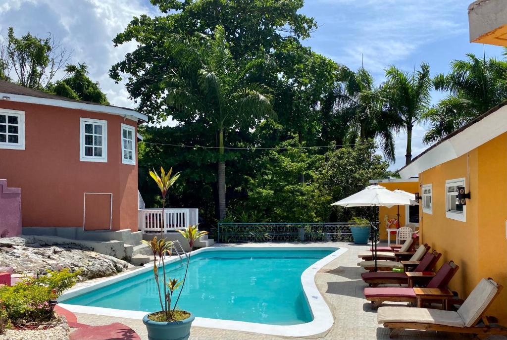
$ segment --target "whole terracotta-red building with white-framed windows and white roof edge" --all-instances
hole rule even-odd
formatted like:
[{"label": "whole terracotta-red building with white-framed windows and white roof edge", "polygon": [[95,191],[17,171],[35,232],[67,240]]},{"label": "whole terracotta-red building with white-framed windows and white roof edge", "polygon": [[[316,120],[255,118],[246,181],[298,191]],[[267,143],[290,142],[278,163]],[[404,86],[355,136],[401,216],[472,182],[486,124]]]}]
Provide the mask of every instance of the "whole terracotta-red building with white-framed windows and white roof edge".
[{"label": "whole terracotta-red building with white-framed windows and white roof edge", "polygon": [[0,179],[23,227],[137,231],[137,125],[147,117],[0,81]]}]

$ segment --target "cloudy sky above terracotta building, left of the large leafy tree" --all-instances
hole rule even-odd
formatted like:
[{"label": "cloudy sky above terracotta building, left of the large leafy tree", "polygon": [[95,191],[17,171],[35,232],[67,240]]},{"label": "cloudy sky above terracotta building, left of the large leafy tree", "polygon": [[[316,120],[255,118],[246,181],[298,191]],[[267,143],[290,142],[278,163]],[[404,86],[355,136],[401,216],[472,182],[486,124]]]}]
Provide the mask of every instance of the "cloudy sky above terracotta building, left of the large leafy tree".
[{"label": "cloudy sky above terracotta building, left of the large leafy tree", "polygon": [[51,32],[69,50],[72,62],[86,63],[90,78],[100,83],[113,105],[134,108],[125,84],[115,84],[108,70],[135,49],[135,43],[115,48],[113,38],[122,32],[134,16],[157,14],[156,8],[143,0],[1,0],[0,29],[13,26],[16,35],[46,36]]}]

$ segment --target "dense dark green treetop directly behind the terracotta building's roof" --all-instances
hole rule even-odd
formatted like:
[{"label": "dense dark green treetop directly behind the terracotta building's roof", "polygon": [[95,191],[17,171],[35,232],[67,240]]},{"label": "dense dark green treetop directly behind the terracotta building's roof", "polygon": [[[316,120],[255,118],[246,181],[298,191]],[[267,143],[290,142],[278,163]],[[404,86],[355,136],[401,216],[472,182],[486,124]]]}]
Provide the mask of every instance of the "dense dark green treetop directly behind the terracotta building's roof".
[{"label": "dense dark green treetop directly behind the terracotta building's roof", "polygon": [[50,83],[47,91],[58,96],[108,105],[109,102],[98,82],[93,82],[88,77],[87,68],[86,64],[65,66],[68,77],[54,84]]}]

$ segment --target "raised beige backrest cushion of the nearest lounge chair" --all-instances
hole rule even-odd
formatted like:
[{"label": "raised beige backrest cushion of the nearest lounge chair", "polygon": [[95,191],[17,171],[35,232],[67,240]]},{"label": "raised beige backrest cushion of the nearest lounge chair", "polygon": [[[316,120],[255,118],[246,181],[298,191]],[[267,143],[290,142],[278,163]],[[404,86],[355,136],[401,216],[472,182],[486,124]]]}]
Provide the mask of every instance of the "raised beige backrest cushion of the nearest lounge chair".
[{"label": "raised beige backrest cushion of the nearest lounge chair", "polygon": [[457,312],[466,327],[474,326],[475,321],[488,307],[497,291],[498,286],[493,280],[482,279],[479,282]]}]

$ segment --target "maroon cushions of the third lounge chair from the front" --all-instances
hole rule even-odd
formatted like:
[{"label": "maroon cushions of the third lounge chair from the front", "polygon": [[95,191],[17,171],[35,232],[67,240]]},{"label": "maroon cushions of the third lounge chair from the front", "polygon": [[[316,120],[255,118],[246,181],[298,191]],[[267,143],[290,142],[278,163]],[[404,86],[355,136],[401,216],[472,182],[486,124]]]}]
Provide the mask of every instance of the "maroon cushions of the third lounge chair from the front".
[{"label": "maroon cushions of the third lounge chair from the front", "polygon": [[[432,253],[427,252],[422,258],[421,262],[414,269],[414,273],[427,273],[432,272],[433,268],[437,264],[438,260],[442,256],[441,253],[433,251]],[[429,275],[427,276],[429,277]],[[368,272],[361,273],[361,278],[370,286],[375,287],[379,284],[408,284],[409,278],[406,272],[395,273],[395,272]]]}]

